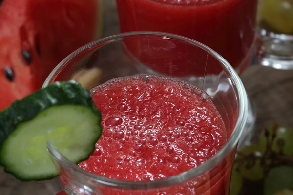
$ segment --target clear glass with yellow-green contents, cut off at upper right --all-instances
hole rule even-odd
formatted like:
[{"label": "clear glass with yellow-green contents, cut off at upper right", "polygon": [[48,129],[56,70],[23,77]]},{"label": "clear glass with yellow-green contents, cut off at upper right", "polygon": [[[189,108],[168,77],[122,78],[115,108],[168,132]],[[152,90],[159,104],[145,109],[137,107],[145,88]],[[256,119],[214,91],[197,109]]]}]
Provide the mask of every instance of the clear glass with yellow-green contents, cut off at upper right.
[{"label": "clear glass with yellow-green contents, cut off at upper right", "polygon": [[259,14],[260,64],[293,69],[293,0],[261,0]]}]

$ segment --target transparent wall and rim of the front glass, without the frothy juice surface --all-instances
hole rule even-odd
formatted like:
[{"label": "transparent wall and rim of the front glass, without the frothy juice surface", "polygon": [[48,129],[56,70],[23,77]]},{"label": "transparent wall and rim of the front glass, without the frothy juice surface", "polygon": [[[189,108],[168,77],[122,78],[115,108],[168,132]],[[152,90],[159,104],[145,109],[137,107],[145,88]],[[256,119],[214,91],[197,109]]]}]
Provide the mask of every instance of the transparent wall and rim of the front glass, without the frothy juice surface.
[{"label": "transparent wall and rim of the front glass, without the frothy juice surface", "polygon": [[[230,175],[235,150],[247,119],[248,102],[244,86],[230,64],[209,47],[173,34],[159,32],[132,32],[118,34],[89,43],[64,59],[46,79],[43,87],[54,81],[75,79],[89,89],[110,79],[136,74],[158,75],[129,55],[129,42],[152,42],[158,50],[165,49],[164,56],[154,55],[147,44],[142,48],[145,58],[152,58],[157,67],[168,61],[173,64],[169,73],[185,64],[195,66],[204,60],[207,70],[221,69],[212,79],[197,82],[212,99],[223,118],[227,143],[213,157],[194,169],[155,181],[122,181],[94,175],[68,161],[56,148],[48,145],[60,173],[63,187],[74,189],[80,195],[228,195]],[[177,47],[190,51],[190,56],[182,55],[180,63],[172,60],[179,55]],[[177,65],[175,65],[177,63]],[[188,69],[186,70],[188,72]],[[203,76],[204,77],[204,76]],[[177,77],[184,80],[184,77]],[[127,170],[126,170],[127,171]]]}]

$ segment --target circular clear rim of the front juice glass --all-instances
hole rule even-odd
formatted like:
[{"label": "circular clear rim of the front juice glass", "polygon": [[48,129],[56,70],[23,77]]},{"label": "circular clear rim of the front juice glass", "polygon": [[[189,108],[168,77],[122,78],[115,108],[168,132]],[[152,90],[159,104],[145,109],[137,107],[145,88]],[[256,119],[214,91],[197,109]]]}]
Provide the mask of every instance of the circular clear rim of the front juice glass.
[{"label": "circular clear rim of the front juice glass", "polygon": [[217,163],[221,162],[225,156],[228,156],[229,153],[237,146],[237,143],[241,137],[242,131],[245,127],[245,123],[247,120],[247,114],[248,114],[248,99],[247,94],[244,88],[243,83],[241,82],[239,76],[237,75],[236,71],[230,66],[228,61],[224,59],[222,56],[220,56],[217,52],[209,48],[208,46],[195,41],[193,39],[189,39],[183,36],[175,35],[175,34],[169,34],[169,33],[163,33],[163,32],[154,32],[154,31],[136,31],[136,32],[128,32],[128,33],[120,33],[112,36],[108,36],[102,39],[98,39],[96,41],[90,42],[81,48],[77,49],[76,51],[72,52],[70,55],[68,55],[65,59],[63,59],[50,73],[50,75],[46,78],[42,88],[48,86],[51,83],[51,80],[55,78],[57,73],[63,69],[63,67],[73,58],[75,58],[80,53],[90,49],[93,46],[99,45],[101,43],[105,43],[107,41],[115,41],[117,39],[121,39],[124,37],[129,36],[137,36],[137,35],[148,35],[148,36],[159,36],[162,38],[167,39],[177,39],[184,42],[187,42],[188,44],[191,44],[193,46],[199,47],[203,50],[205,50],[207,53],[212,55],[214,58],[216,58],[223,66],[225,71],[228,72],[230,75],[230,78],[233,80],[235,87],[238,92],[239,96],[239,115],[237,117],[236,125],[233,129],[233,132],[226,142],[226,144],[211,158],[209,158],[207,161],[205,161],[203,164],[200,164],[199,166],[190,169],[186,172],[183,172],[181,174],[167,177],[164,179],[154,180],[154,181],[124,181],[124,180],[117,180],[117,179],[111,179],[104,176],[99,176],[93,173],[90,173],[88,171],[85,171],[84,169],[80,168],[78,165],[74,164],[70,160],[68,160],[65,156],[63,156],[50,142],[47,143],[47,148],[50,154],[54,157],[54,159],[62,165],[64,168],[68,169],[71,173],[74,175],[80,176],[81,178],[86,178],[90,181],[93,181],[95,183],[98,183],[100,185],[104,185],[107,187],[116,187],[116,188],[122,188],[122,189],[132,189],[132,190],[139,190],[139,189],[153,189],[158,187],[166,187],[169,185],[178,184],[184,181],[187,181],[191,178],[194,178],[196,176],[200,176],[201,174],[204,174],[205,172],[209,171],[209,169],[213,168]]}]

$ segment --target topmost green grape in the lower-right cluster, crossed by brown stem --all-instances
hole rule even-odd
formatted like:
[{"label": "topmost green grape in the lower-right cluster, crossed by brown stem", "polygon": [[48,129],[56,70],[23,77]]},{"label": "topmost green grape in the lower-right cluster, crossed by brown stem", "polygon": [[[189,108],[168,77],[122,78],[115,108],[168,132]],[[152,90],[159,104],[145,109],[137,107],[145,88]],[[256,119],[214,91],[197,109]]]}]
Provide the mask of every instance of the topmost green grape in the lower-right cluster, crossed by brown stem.
[{"label": "topmost green grape in the lower-right cluster, crossed by brown stem", "polygon": [[[260,134],[259,145],[262,150],[266,150],[267,141],[271,142],[274,127],[271,126],[268,128],[269,139],[265,136],[265,131]],[[277,127],[275,131],[276,137],[272,143],[272,150],[274,152],[279,152],[279,145],[283,145],[283,153],[286,155],[293,155],[293,129],[287,127]]]}]

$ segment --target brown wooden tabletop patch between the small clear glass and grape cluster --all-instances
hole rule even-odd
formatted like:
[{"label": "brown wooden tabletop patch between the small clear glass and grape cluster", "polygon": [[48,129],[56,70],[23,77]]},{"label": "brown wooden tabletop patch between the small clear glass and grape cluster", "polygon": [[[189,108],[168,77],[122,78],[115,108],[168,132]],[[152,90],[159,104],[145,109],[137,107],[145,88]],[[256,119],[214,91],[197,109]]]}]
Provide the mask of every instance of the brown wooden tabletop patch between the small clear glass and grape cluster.
[{"label": "brown wooden tabletop patch between the small clear glass and grape cluster", "polygon": [[273,123],[293,127],[293,71],[256,65],[241,79],[256,112],[256,133]]}]

